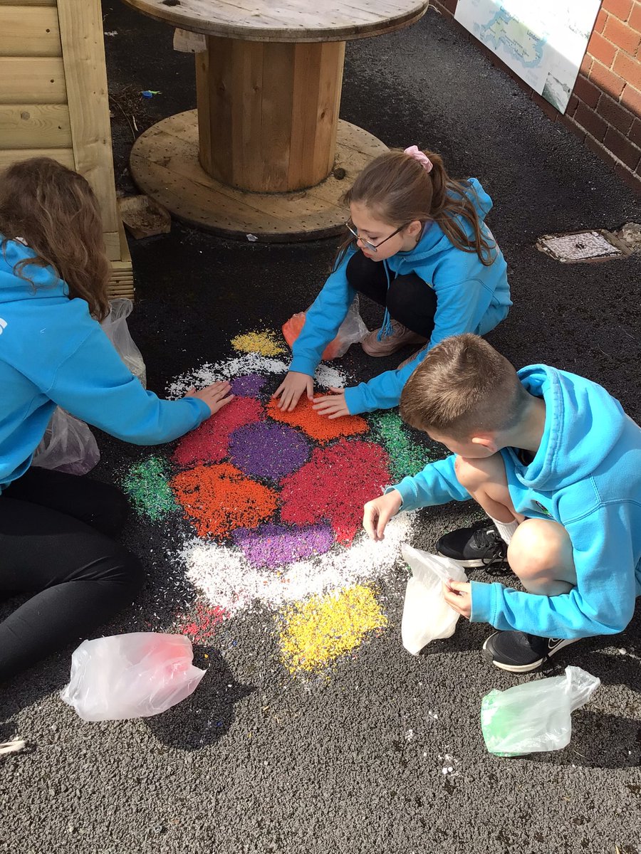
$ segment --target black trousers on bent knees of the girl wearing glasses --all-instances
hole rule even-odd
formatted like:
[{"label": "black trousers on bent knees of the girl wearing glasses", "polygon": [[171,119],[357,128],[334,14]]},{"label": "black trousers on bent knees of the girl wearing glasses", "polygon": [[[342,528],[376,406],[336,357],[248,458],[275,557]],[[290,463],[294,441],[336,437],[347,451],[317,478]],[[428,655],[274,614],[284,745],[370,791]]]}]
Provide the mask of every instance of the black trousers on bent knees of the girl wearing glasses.
[{"label": "black trousers on bent knees of the girl wearing glasses", "polygon": [[415,272],[392,279],[388,289],[383,265],[384,261],[373,261],[356,252],[347,264],[347,280],[359,293],[386,307],[391,318],[429,338],[434,328],[436,294]]}]

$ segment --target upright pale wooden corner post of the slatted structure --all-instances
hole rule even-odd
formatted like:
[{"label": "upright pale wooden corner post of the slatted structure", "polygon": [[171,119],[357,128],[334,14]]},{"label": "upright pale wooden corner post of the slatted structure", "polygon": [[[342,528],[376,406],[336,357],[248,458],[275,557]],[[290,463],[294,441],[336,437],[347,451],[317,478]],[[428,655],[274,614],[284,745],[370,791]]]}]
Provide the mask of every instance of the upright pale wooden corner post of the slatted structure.
[{"label": "upright pale wooden corner post of the slatted structure", "polygon": [[103,16],[99,0],[58,0],[76,170],[97,195],[105,232],[118,231],[109,126]]}]

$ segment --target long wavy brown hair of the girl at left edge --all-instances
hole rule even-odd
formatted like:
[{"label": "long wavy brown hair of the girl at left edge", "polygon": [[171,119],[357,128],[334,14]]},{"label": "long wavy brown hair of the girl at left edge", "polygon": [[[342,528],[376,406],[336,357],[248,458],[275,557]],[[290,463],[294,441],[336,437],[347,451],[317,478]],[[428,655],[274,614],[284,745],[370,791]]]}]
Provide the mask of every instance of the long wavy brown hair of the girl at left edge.
[{"label": "long wavy brown hair of the girl at left edge", "polygon": [[107,316],[110,266],[103,223],[82,175],[49,157],[14,163],[0,176],[0,235],[3,253],[16,237],[36,253],[15,265],[16,276],[32,283],[27,266],[51,266],[67,283],[70,299],[85,300],[97,320]]}]

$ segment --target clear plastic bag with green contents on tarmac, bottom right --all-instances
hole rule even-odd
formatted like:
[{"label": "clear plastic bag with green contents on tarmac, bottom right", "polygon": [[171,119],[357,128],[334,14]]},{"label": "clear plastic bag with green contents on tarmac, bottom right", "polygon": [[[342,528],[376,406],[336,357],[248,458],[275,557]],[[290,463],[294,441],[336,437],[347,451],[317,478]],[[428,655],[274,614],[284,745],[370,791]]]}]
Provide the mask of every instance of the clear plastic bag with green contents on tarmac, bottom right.
[{"label": "clear plastic bag with green contents on tarmac, bottom right", "polygon": [[580,667],[566,667],[564,676],[491,691],[481,702],[485,746],[497,756],[561,750],[570,743],[572,712],[585,705],[600,684]]}]

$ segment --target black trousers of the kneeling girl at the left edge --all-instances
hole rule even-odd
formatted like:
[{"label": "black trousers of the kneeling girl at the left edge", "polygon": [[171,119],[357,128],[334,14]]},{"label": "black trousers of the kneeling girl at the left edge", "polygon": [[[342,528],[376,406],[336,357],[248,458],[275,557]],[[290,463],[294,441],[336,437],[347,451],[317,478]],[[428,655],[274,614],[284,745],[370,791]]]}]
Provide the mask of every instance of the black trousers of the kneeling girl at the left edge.
[{"label": "black trousers of the kneeling girl at the left edge", "polygon": [[0,591],[35,594],[0,623],[0,682],[132,601],[143,568],[111,539],[127,511],[108,483],[35,467],[0,495]]}]

